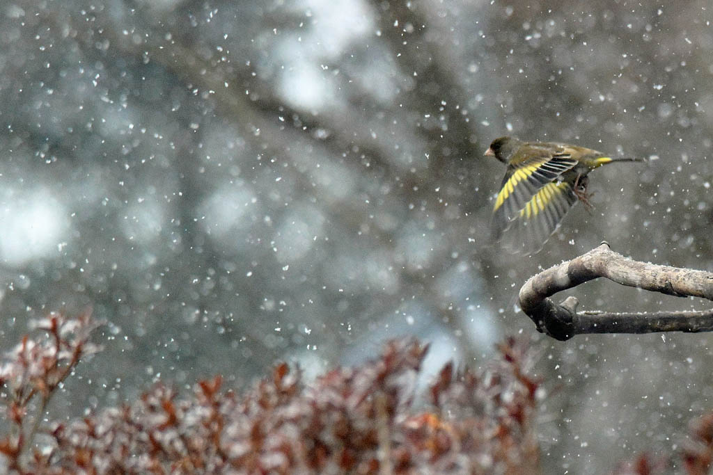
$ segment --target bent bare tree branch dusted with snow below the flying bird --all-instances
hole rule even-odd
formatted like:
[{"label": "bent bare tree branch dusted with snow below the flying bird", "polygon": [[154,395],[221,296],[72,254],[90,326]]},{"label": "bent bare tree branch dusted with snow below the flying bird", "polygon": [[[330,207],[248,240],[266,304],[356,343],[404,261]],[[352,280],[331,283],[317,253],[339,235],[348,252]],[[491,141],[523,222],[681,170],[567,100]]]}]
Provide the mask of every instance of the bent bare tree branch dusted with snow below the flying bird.
[{"label": "bent bare tree branch dusted with snow below the flying bird", "polygon": [[578,300],[554,303],[550,296],[597,277],[622,286],[643,288],[677,297],[713,301],[713,273],[632,261],[603,242],[582,256],[530,277],[520,288],[520,308],[538,331],[558,340],[585,333],[654,333],[713,331],[713,309],[702,311],[610,313],[578,312]]}]

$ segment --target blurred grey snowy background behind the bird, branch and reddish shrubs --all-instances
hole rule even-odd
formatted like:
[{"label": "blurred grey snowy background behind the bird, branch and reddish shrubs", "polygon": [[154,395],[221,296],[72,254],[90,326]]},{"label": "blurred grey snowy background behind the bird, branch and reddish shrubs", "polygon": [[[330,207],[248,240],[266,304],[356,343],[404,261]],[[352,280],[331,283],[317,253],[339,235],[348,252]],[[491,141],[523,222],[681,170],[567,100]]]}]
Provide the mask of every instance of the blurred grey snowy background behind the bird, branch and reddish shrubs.
[{"label": "blurred grey snowy background behind the bird, branch and reddish shrubs", "polygon": [[[606,239],[713,270],[707,1],[0,2],[0,337],[92,306],[106,351],[51,408],[275,360],[308,375],[432,342],[479,365],[533,335],[545,473],[677,447],[713,409],[713,335],[559,343],[515,312]],[[513,134],[648,157],[590,175],[529,259],[488,243]],[[705,308],[604,281],[583,308]]]}]

